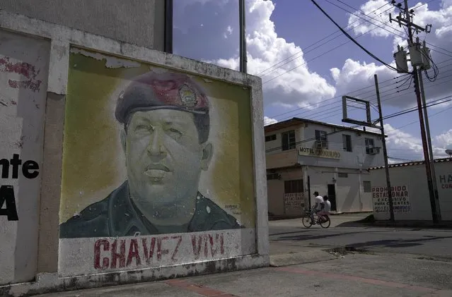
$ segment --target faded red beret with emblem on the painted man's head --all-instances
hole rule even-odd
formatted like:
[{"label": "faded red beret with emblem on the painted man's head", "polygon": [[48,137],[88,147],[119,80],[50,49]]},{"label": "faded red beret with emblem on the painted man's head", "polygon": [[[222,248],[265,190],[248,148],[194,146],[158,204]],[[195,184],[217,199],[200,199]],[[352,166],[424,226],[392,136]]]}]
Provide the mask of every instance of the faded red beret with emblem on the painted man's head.
[{"label": "faded red beret with emblem on the painted man's head", "polygon": [[144,73],[132,79],[117,99],[115,116],[126,123],[129,114],[153,109],[176,109],[194,114],[209,113],[202,88],[183,73]]}]

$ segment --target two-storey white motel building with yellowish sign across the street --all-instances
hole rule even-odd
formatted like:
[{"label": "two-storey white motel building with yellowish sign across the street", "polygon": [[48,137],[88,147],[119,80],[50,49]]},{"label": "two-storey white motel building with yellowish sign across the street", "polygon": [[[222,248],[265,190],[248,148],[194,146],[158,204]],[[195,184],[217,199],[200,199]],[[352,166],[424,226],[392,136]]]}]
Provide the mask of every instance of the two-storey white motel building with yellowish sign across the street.
[{"label": "two-storey white motel building with yellowish sign across the street", "polygon": [[302,214],[315,191],[332,211],[372,211],[367,169],[383,166],[381,147],[381,134],[365,129],[299,118],[265,126],[270,215]]}]

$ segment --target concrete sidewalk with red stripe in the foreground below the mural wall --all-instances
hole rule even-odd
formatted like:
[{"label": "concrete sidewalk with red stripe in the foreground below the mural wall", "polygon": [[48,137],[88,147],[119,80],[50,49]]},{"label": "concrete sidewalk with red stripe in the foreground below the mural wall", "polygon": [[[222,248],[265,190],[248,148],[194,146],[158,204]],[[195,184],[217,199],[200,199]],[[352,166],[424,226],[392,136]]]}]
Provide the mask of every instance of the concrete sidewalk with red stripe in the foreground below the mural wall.
[{"label": "concrete sidewalk with red stripe in the foreground below the mural wall", "polygon": [[53,293],[42,297],[450,297],[450,266],[450,263],[419,260],[406,255],[352,253],[335,260],[304,265]]}]

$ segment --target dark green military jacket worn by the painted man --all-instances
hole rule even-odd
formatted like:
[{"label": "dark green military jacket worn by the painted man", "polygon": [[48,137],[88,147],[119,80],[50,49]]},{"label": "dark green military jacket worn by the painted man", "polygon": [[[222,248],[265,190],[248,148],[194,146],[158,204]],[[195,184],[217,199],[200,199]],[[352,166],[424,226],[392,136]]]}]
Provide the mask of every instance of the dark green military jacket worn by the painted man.
[{"label": "dark green military jacket worn by the painted man", "polygon": [[[238,229],[237,220],[214,202],[197,194],[196,210],[186,232]],[[107,198],[86,207],[59,226],[60,238],[117,237],[160,234],[129,198],[127,181]]]}]

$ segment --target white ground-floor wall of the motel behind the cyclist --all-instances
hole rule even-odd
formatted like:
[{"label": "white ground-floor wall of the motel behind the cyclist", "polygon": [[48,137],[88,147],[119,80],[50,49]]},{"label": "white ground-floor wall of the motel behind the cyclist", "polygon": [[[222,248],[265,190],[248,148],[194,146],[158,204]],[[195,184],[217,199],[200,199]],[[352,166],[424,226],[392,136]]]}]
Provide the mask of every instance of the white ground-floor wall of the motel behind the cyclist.
[{"label": "white ground-floor wall of the motel behind the cyclist", "polygon": [[[363,181],[369,179],[366,171],[354,169],[331,169],[328,167],[306,166],[311,183],[311,205],[314,205],[313,193],[328,195],[328,185],[335,185],[337,212],[371,212],[371,193],[364,193]],[[347,177],[340,177],[347,174]],[[335,181],[333,181],[333,179]]]}]

